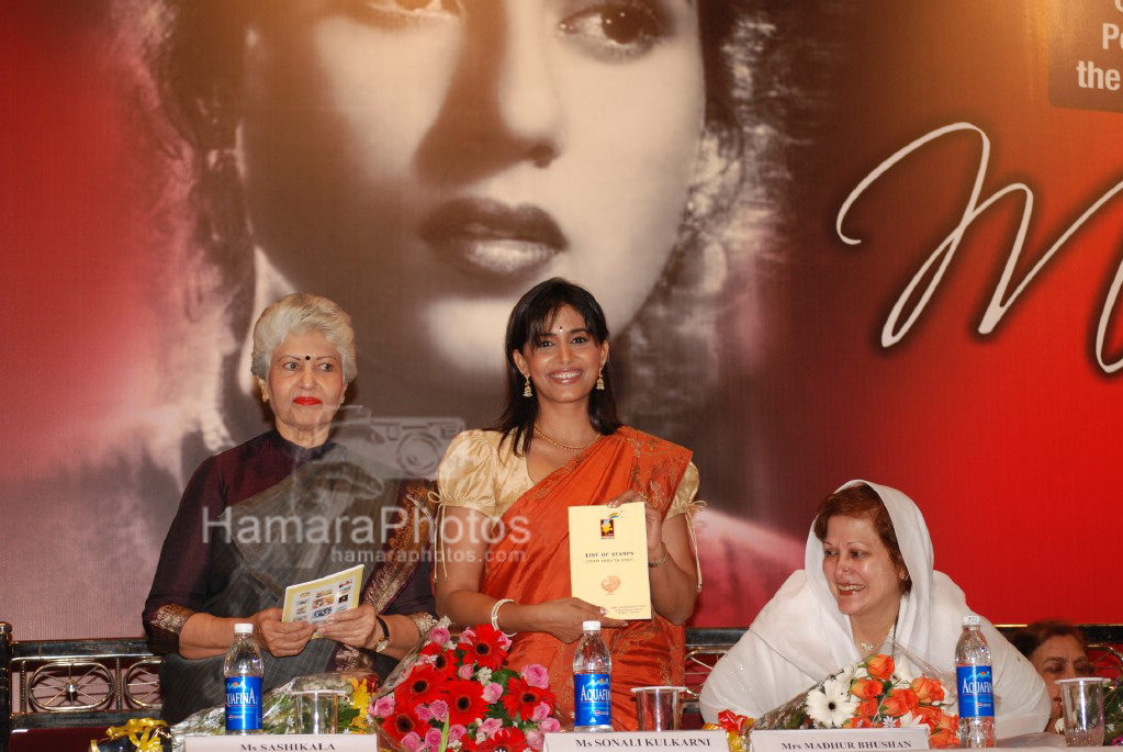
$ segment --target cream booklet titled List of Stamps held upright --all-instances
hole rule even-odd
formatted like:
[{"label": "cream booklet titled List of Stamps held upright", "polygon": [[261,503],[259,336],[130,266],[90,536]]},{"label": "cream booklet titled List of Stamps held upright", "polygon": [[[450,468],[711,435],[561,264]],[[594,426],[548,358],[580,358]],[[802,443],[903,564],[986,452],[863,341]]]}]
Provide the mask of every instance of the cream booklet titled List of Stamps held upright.
[{"label": "cream booklet titled List of Stamps held upright", "polygon": [[612,618],[651,618],[642,502],[569,507],[569,581]]}]

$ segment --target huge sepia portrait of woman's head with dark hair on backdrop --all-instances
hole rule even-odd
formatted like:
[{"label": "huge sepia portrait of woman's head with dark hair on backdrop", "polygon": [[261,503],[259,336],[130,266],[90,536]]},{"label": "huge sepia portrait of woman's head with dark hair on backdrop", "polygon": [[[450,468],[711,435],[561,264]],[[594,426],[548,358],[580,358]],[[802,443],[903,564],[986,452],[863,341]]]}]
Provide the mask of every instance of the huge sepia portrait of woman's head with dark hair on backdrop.
[{"label": "huge sepia portrait of woman's head with dark hair on backdrop", "polygon": [[731,257],[767,233],[760,8],[167,2],[152,63],[192,181],[195,305],[225,311],[244,379],[204,433],[259,421],[243,333],[292,290],[367,322],[353,404],[476,424],[512,301],[551,276],[604,301],[632,412],[685,409],[716,370]]}]

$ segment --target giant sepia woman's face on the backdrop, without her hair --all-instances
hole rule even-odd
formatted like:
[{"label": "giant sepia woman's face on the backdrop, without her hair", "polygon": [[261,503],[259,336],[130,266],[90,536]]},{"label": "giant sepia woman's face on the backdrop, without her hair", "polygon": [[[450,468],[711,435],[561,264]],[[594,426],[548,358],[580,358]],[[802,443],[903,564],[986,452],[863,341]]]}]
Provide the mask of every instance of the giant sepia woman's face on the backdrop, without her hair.
[{"label": "giant sepia woman's face on the backdrop, without her hair", "polygon": [[511,305],[550,276],[631,320],[694,173],[693,0],[270,10],[239,130],[253,233],[296,288],[365,319],[360,354],[491,384]]}]

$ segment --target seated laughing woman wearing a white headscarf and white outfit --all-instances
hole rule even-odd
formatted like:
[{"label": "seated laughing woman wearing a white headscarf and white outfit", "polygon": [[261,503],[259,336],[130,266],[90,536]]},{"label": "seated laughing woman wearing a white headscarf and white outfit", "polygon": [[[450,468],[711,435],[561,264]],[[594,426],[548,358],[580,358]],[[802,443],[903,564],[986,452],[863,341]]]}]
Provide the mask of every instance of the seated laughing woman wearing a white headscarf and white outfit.
[{"label": "seated laughing woman wearing a white headscarf and white outfit", "polygon": [[[816,514],[794,572],[702,689],[702,714],[759,717],[874,653],[907,654],[955,673],[964,591],[933,569],[920,510],[887,486],[851,480]],[[996,734],[1039,732],[1049,697],[1033,667],[983,620],[994,657]]]}]

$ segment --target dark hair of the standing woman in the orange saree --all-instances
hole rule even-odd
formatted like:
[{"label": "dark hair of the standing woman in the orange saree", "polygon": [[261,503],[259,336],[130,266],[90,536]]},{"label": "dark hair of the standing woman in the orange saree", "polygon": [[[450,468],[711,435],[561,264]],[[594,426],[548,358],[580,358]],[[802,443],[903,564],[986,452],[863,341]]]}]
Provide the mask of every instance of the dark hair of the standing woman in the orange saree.
[{"label": "dark hair of the standing woman in the orange saree", "polygon": [[[506,337],[503,340],[506,358],[506,407],[491,427],[510,437],[515,453],[524,455],[530,449],[538,420],[538,392],[522,396],[526,378],[514,364],[514,352],[528,345],[537,347],[538,338],[546,333],[557,312],[568,305],[585,320],[585,328],[597,345],[609,341],[609,323],[601,304],[593,294],[581,285],[562,277],[540,282],[519,299],[506,321]],[[612,391],[612,369],[604,364],[602,372],[604,389],[593,389],[588,395],[588,422],[601,435],[614,433],[620,428],[617,418],[617,398]]]}]

